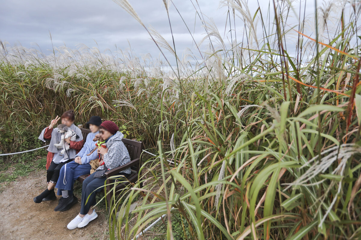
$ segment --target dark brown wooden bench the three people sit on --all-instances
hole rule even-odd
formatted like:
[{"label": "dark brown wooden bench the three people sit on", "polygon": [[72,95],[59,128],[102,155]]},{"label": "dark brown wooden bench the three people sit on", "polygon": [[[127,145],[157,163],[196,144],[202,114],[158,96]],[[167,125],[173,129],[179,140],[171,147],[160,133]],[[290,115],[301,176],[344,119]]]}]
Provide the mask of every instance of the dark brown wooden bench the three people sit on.
[{"label": "dark brown wooden bench the three people sit on", "polygon": [[[83,139],[84,141],[87,139],[88,133],[90,133],[91,131],[86,129],[86,128],[80,128],[82,130],[82,135],[83,135]],[[124,145],[126,146],[126,148],[128,149],[129,152],[129,156],[130,156],[130,162],[127,164],[124,164],[123,166],[114,168],[112,170],[109,170],[108,172],[105,173],[105,176],[107,178],[106,180],[106,184],[110,184],[113,183],[115,180],[114,179],[109,179],[109,177],[112,176],[116,176],[119,175],[119,172],[121,172],[122,170],[129,168],[131,169],[131,173],[130,176],[127,177],[127,179],[131,182],[131,183],[135,183],[136,181],[138,181],[138,173],[140,171],[140,154],[142,153],[142,142],[138,142],[138,141],[134,141],[134,140],[130,140],[130,139],[122,139]],[[83,183],[83,181],[89,176],[89,174],[86,175],[82,175],[78,178],[78,181]],[[116,186],[116,191],[125,188],[129,183],[118,183]],[[108,185],[106,186],[106,192],[108,193],[108,195],[106,195],[106,199],[108,200],[108,203],[110,204],[110,200],[112,199],[112,192],[110,192],[110,189],[113,187],[113,185]],[[109,193],[110,192],[110,193]]]}]

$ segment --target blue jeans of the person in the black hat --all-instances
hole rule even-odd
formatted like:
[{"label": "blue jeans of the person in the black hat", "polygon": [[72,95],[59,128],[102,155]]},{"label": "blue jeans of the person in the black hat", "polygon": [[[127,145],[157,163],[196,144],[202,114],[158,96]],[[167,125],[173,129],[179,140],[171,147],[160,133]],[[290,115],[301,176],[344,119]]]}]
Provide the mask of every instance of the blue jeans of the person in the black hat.
[{"label": "blue jeans of the person in the black hat", "polygon": [[56,188],[58,189],[57,195],[61,195],[61,190],[68,190],[69,196],[73,195],[73,186],[75,180],[78,177],[90,174],[91,166],[89,163],[79,164],[74,161],[65,164],[60,169],[60,175],[58,181],[56,182]]}]

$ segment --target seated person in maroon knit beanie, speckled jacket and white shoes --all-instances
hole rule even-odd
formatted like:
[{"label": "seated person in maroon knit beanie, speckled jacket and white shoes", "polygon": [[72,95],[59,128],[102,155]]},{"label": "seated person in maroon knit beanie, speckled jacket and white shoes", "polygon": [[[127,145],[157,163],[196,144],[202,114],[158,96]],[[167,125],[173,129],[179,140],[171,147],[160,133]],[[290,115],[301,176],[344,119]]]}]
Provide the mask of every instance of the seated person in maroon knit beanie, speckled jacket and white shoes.
[{"label": "seated person in maroon knit beanie, speckled jacket and white shoes", "polygon": [[[68,224],[69,229],[85,227],[90,221],[97,218],[98,214],[91,207],[96,204],[95,195],[104,189],[106,181],[105,172],[130,162],[130,156],[122,138],[123,133],[118,131],[118,126],[112,121],[104,121],[100,125],[99,134],[105,139],[107,148],[99,148],[98,153],[103,156],[103,162],[94,173],[83,182],[82,201],[80,213]],[[126,168],[119,175],[130,176],[130,168]]]}]

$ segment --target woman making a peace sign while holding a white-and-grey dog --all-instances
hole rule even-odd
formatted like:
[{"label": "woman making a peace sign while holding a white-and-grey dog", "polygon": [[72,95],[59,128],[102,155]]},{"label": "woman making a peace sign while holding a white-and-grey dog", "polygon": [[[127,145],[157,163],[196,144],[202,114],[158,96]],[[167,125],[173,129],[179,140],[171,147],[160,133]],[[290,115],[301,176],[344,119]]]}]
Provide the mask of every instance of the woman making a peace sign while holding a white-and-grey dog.
[{"label": "woman making a peace sign while holding a white-and-grey dog", "polygon": [[[57,128],[53,131],[55,124],[61,119],[61,123],[68,126],[71,130],[74,130],[77,134],[77,140],[70,141],[70,138],[65,139],[66,142],[69,143],[70,149],[66,152],[66,154],[61,155],[61,149],[57,149],[54,144],[60,142],[61,135],[64,133],[59,133]],[[43,191],[40,195],[34,198],[35,203],[41,203],[42,201],[50,201],[56,199],[54,193],[54,187],[59,177],[61,167],[68,162],[71,162],[75,158],[76,150],[79,150],[83,147],[83,135],[82,131],[74,125],[74,110],[66,111],[60,118],[56,116],[50,122],[49,127],[44,128],[42,133],[39,136],[39,139],[42,141],[50,140],[50,145],[48,147],[48,155],[47,155],[47,183],[48,188]]]}]

